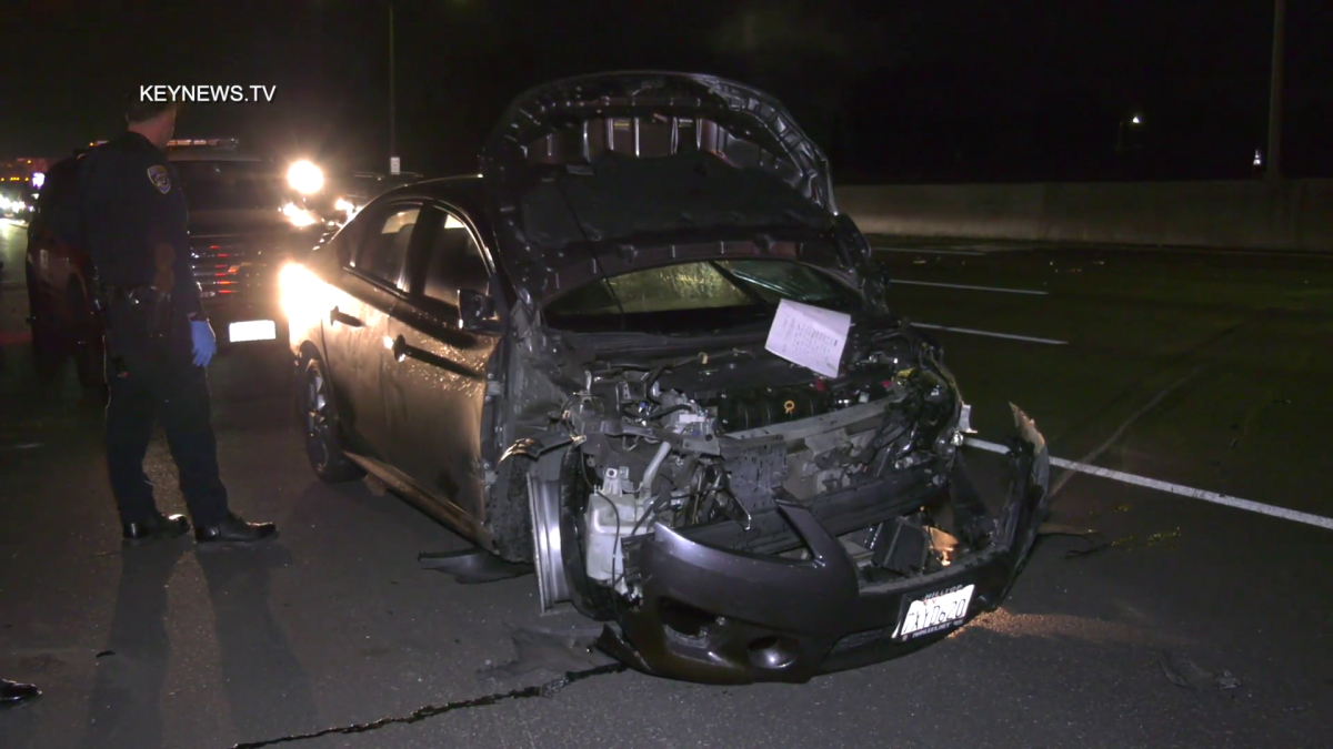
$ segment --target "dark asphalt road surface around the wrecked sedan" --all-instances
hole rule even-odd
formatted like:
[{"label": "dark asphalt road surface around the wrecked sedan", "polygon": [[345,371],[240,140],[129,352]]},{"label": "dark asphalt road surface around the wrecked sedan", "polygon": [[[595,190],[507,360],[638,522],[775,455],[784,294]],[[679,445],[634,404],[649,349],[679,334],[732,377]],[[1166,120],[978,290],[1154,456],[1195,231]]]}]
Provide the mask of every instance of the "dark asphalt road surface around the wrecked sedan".
[{"label": "dark asphalt road surface around the wrecked sedan", "polygon": [[[1010,401],[1084,468],[1053,472],[1053,533],[1010,598],[917,654],[801,686],[623,672],[560,688],[584,668],[569,652],[487,670],[516,657],[511,628],[577,624],[537,617],[531,577],[423,570],[417,552],[461,541],[373,482],[315,480],[281,351],[212,368],[232,504],[280,541],[121,553],[100,409],[68,364],[29,355],[23,241],[0,225],[0,676],[45,694],[0,713],[0,746],[336,728],[281,745],[1333,744],[1330,260],[880,239],[898,309],[934,327],[973,404],[986,481]],[[160,442],[149,472],[183,512]]]}]

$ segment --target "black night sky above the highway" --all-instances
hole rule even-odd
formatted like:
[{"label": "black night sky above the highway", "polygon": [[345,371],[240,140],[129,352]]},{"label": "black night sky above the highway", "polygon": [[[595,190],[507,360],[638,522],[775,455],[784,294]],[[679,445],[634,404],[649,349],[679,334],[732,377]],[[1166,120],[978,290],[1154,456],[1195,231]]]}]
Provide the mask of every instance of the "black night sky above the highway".
[{"label": "black night sky above the highway", "polygon": [[[1288,4],[1289,176],[1333,175],[1321,5]],[[177,133],[387,168],[385,1],[11,0],[3,13],[0,157],[115,135],[143,84],[264,84],[272,103],[196,104]],[[1266,140],[1272,0],[405,0],[396,17],[397,151],[428,173],[475,171],[524,88],[616,68],[768,89],[841,180],[1244,179]],[[1144,127],[1120,133],[1134,113]]]}]

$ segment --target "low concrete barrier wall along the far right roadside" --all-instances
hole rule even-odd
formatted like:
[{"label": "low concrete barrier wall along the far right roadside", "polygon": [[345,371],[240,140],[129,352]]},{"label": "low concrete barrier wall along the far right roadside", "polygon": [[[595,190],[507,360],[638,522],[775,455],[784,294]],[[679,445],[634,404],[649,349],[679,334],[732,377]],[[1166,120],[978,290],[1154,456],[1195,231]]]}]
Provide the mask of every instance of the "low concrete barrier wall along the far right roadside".
[{"label": "low concrete barrier wall along the far right roadside", "polygon": [[837,189],[865,233],[1333,252],[1333,180]]}]

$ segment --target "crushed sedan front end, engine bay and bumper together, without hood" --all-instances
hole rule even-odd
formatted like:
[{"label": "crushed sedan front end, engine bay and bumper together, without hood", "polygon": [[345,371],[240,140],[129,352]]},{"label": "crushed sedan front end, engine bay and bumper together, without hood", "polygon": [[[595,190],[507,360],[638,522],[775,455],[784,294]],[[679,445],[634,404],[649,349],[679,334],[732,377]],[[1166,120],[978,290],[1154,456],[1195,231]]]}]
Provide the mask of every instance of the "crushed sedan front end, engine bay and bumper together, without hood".
[{"label": "crushed sedan front end, engine bay and bumper together, without hood", "polygon": [[1045,442],[1016,408],[1009,494],[985,501],[938,349],[865,329],[838,378],[740,345],[605,363],[564,392],[560,357],[531,359],[559,416],[503,460],[525,465],[543,608],[609,621],[603,648],[645,672],[748,682],[889,657],[996,606],[1044,510]]}]

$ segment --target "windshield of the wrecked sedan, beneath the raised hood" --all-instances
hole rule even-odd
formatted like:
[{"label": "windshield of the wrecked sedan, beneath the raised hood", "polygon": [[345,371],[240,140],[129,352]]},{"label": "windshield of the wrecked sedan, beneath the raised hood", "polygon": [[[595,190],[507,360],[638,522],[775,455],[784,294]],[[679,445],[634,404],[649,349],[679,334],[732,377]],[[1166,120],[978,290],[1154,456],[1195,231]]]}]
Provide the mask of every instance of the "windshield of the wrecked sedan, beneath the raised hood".
[{"label": "windshield of the wrecked sedan, beneath the raised hood", "polygon": [[[708,260],[601,279],[547,305],[573,332],[706,333],[766,321],[784,299],[856,312],[853,289],[784,260]],[[624,312],[624,313],[621,313]]]}]

